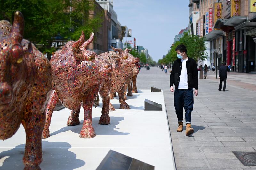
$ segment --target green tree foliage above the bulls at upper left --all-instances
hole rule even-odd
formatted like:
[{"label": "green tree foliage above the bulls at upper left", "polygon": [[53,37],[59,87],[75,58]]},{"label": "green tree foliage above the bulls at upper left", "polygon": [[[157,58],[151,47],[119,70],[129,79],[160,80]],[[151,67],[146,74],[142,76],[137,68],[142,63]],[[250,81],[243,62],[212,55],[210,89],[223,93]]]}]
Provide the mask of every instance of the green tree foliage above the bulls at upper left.
[{"label": "green tree foliage above the bulls at upper left", "polygon": [[101,27],[104,13],[89,17],[93,9],[94,1],[90,0],[0,0],[0,20],[12,23],[14,12],[21,11],[25,19],[24,38],[44,44],[40,49],[43,52],[53,52],[56,49],[51,48],[51,42],[57,35],[77,40],[82,30],[88,38]]}]

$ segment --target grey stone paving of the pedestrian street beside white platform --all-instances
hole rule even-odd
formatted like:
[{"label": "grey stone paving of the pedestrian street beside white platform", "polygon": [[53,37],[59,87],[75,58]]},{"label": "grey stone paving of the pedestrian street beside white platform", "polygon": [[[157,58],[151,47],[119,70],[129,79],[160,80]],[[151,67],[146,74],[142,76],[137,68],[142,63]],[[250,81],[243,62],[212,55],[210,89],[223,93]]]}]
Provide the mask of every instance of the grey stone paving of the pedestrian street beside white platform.
[{"label": "grey stone paving of the pedestrian street beside white platform", "polygon": [[218,91],[215,73],[209,72],[208,77],[199,80],[191,120],[195,132],[190,137],[185,136],[185,125],[183,132],[176,132],[169,70],[165,74],[157,67],[141,69],[137,87],[155,86],[164,91],[177,169],[256,169],[244,166],[232,153],[256,151],[256,75],[228,73],[226,92]]}]

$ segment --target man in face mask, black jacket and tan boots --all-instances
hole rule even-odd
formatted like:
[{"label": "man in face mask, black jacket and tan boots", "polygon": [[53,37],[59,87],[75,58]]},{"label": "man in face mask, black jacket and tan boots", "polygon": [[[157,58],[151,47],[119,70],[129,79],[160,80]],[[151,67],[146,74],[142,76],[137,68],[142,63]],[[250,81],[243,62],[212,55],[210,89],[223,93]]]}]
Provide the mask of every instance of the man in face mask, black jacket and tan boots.
[{"label": "man in face mask, black jacket and tan boots", "polygon": [[191,128],[191,112],[193,111],[194,96],[193,89],[195,88],[195,96],[198,95],[198,71],[196,61],[187,56],[185,45],[178,45],[175,49],[177,59],[172,65],[170,76],[170,91],[173,92],[173,83],[175,85],[174,92],[174,107],[178,118],[177,132],[183,130],[183,107],[185,109],[186,120],[186,136],[194,133]]}]

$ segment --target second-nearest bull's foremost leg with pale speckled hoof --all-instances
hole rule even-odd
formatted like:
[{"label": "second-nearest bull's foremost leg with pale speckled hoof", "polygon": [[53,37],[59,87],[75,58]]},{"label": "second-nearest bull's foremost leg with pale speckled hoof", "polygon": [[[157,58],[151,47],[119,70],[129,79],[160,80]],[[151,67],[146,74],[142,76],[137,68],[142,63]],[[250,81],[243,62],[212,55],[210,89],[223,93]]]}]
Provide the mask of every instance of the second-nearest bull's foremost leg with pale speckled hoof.
[{"label": "second-nearest bull's foremost leg with pale speckled hoof", "polygon": [[84,108],[84,122],[79,137],[93,138],[96,136],[94,128],[92,127],[92,106],[93,101],[98,94],[99,86],[94,86],[87,90],[83,98]]}]

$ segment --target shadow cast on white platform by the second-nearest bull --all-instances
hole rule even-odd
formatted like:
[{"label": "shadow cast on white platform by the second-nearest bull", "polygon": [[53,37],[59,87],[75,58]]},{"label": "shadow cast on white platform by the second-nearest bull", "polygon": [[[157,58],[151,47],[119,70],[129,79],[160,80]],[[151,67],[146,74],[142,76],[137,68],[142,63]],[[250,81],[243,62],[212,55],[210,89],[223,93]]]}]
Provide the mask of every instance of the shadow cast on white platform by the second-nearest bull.
[{"label": "shadow cast on white platform by the second-nearest bull", "polygon": [[[68,118],[67,118],[67,120],[68,120]],[[124,120],[123,117],[111,116],[110,117],[110,124],[108,124],[108,125],[99,125],[98,124],[99,120],[100,120],[100,117],[92,118],[92,126],[94,127],[96,135],[128,135],[128,134],[130,134],[130,133],[125,133],[125,132],[119,132],[117,130],[119,128],[116,128],[116,125],[118,125],[120,121]],[[72,132],[75,132],[77,134],[80,134],[80,131],[81,131],[82,126],[83,126],[83,121],[84,120],[81,120],[80,124],[76,125],[76,126],[67,126],[67,125],[65,125],[65,127],[61,128],[60,130],[52,132],[50,134],[50,136],[57,135],[59,133],[66,132],[66,131],[69,131],[69,130],[71,130]],[[96,126],[98,126],[100,128],[96,128]]]}]

